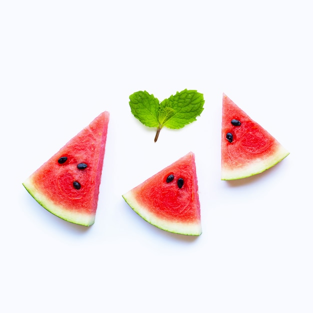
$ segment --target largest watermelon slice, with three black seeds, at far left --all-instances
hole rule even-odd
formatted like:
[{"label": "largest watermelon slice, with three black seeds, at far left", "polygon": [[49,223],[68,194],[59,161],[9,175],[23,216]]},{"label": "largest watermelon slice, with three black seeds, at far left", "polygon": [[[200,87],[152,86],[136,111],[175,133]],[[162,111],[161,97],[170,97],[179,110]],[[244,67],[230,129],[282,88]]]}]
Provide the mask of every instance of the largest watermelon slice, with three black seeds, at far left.
[{"label": "largest watermelon slice, with three black seeds, at far left", "polygon": [[54,215],[72,223],[94,223],[109,113],[99,114],[23,185]]}]

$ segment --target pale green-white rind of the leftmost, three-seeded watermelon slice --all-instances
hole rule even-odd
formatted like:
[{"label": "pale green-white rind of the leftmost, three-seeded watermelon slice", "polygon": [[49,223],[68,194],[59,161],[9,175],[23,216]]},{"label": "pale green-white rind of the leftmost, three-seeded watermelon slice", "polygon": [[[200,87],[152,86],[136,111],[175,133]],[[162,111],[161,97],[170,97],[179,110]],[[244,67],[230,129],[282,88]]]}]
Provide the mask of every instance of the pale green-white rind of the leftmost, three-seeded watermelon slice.
[{"label": "pale green-white rind of the leftmost, three-seeded watermelon slice", "polygon": [[66,220],[68,222],[79,224],[82,226],[90,226],[94,223],[95,214],[81,213],[77,210],[70,211],[60,205],[55,204],[51,199],[42,194],[33,184],[31,176],[29,176],[23,183],[28,193],[47,211],[55,216]]}]

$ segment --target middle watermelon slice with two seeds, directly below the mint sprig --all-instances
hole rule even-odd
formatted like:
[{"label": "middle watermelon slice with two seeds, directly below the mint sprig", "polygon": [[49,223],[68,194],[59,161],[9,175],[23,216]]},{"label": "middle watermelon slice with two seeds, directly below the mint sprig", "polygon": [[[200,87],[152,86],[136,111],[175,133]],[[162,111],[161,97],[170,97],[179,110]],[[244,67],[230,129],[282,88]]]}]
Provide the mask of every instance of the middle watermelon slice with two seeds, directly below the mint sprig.
[{"label": "middle watermelon slice with two seeds, directly below the mint sprig", "polygon": [[138,215],[160,229],[184,235],[200,235],[202,232],[193,152],[122,197]]}]

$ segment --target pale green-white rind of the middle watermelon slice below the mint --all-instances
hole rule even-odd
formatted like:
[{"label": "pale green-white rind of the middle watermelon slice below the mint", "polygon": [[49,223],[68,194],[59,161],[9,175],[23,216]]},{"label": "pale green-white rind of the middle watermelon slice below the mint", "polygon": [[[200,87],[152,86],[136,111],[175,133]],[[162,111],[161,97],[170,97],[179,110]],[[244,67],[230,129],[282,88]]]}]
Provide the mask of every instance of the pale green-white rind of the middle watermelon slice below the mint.
[{"label": "pale green-white rind of the middle watermelon slice below the mint", "polygon": [[128,192],[122,194],[122,197],[139,216],[141,216],[145,221],[156,226],[157,228],[183,235],[199,236],[202,233],[200,221],[187,223],[170,221],[168,219],[162,219],[155,216],[153,213],[150,212],[149,208],[140,205],[136,201],[132,190],[129,190]]}]

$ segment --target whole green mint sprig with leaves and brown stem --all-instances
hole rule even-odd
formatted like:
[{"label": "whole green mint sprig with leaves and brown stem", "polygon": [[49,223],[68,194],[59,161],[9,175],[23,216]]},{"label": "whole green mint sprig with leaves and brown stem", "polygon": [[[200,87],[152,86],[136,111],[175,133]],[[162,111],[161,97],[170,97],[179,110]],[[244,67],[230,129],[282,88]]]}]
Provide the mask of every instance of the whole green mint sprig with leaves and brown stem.
[{"label": "whole green mint sprig with leaves and brown stem", "polygon": [[131,113],[148,127],[156,127],[156,142],[162,127],[178,129],[196,120],[203,111],[203,94],[184,89],[159,101],[147,91],[136,91],[129,96]]}]

